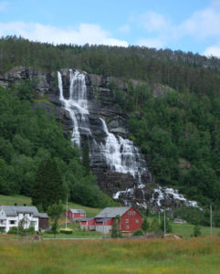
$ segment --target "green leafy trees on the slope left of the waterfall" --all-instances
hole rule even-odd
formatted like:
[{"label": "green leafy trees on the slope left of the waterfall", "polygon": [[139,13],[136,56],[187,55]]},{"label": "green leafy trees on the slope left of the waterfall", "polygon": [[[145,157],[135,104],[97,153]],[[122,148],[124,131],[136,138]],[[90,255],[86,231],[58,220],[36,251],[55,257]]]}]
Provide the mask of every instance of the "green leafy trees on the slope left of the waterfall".
[{"label": "green leafy trees on the slope left of the waterfall", "polygon": [[[110,205],[110,198],[101,193],[95,177],[81,163],[79,150],[64,137],[55,117],[42,108],[33,108],[28,96],[33,95],[32,89],[28,81],[7,91],[0,87],[0,193],[33,196],[38,166],[43,165],[44,178],[44,163],[51,159],[57,164],[48,176],[61,176],[62,197],[69,194],[70,200],[82,205]],[[47,193],[52,189],[48,187],[42,183],[37,191]]]}]

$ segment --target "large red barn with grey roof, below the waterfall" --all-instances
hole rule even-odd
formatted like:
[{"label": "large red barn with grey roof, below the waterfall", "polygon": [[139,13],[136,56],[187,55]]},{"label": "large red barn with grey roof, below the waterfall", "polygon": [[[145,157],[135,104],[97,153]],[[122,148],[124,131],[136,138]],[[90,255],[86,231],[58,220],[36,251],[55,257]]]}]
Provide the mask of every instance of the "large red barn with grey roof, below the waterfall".
[{"label": "large red barn with grey roof, below the waterfall", "polygon": [[96,230],[104,234],[110,233],[116,216],[120,216],[120,230],[124,234],[129,234],[141,228],[141,214],[132,206],[121,206],[103,209],[95,217]]}]

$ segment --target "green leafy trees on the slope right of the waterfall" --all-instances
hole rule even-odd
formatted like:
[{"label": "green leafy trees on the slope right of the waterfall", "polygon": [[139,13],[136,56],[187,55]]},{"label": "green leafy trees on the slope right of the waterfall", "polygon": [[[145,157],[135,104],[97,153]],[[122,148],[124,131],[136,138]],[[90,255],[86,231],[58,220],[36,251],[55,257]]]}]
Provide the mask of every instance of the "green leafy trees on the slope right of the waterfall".
[{"label": "green leafy trees on the slope right of the waterfall", "polygon": [[116,90],[131,113],[131,139],[145,155],[156,182],[170,185],[202,205],[220,201],[220,99],[171,91],[153,97],[139,86]]}]

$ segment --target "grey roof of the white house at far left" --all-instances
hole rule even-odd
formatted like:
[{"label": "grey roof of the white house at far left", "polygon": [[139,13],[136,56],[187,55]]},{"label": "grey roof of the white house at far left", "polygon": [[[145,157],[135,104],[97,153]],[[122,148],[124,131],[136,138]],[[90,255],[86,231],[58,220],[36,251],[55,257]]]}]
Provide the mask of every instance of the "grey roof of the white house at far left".
[{"label": "grey roof of the white house at far left", "polygon": [[19,213],[31,213],[33,216],[38,216],[36,206],[19,206],[19,205],[1,205],[6,216],[17,216]]}]

